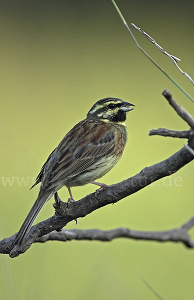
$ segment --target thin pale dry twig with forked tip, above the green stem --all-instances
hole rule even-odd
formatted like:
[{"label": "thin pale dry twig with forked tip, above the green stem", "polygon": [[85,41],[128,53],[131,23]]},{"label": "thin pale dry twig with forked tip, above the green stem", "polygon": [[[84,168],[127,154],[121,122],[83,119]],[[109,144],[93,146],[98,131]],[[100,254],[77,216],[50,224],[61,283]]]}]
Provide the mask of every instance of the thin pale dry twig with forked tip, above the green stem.
[{"label": "thin pale dry twig with forked tip, above the green stem", "polygon": [[131,23],[132,27],[134,27],[135,29],[137,29],[140,33],[142,33],[143,35],[145,35],[145,37],[152,42],[163,54],[167,55],[170,59],[172,59],[174,65],[177,67],[177,69],[183,74],[185,75],[188,80],[190,80],[190,82],[194,85],[194,81],[192,80],[192,78],[186,73],[184,72],[179,66],[178,66],[178,61],[180,61],[180,59],[174,55],[169,54],[168,52],[164,51],[163,48],[156,43],[156,41],[150,36],[148,35],[145,31],[143,31],[141,28],[137,27],[135,24]]}]

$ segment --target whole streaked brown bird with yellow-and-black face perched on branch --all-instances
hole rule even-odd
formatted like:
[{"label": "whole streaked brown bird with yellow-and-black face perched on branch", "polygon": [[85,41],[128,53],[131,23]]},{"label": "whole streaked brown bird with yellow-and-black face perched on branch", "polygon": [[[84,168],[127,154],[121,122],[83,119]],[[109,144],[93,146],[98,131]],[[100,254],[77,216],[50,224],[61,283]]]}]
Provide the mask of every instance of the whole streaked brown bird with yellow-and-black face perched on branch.
[{"label": "whole streaked brown bird with yellow-and-black face perched on branch", "polygon": [[[131,103],[119,98],[97,101],[84,120],[77,123],[51,152],[37,175],[35,186],[41,182],[35,203],[25,218],[14,243],[19,245],[44,203],[62,186],[70,187],[93,183],[106,174],[120,159],[127,141],[126,112]],[[32,188],[31,187],[31,188]]]}]

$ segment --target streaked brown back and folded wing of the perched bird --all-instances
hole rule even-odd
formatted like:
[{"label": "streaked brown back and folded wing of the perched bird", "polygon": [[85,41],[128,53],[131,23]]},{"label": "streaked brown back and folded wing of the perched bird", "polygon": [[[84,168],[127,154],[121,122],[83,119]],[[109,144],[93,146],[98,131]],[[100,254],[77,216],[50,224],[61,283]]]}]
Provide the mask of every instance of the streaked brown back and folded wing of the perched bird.
[{"label": "streaked brown back and folded wing of the perched bird", "polygon": [[48,183],[53,186],[76,176],[110,155],[115,147],[115,130],[109,124],[88,119],[75,125],[58,145],[58,159],[53,163]]}]

